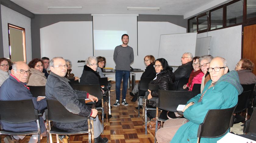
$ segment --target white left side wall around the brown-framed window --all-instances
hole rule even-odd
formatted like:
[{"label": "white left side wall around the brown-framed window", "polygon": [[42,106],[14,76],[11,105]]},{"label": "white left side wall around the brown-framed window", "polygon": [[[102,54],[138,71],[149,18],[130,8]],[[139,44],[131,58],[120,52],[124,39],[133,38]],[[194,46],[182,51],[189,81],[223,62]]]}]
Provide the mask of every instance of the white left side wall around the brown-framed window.
[{"label": "white left side wall around the brown-framed window", "polygon": [[1,5],[1,16],[2,16],[4,57],[9,58],[8,23],[10,23],[15,26],[25,28],[26,56],[27,56],[27,63],[29,63],[32,60],[31,28],[30,28],[31,19],[3,5]]}]

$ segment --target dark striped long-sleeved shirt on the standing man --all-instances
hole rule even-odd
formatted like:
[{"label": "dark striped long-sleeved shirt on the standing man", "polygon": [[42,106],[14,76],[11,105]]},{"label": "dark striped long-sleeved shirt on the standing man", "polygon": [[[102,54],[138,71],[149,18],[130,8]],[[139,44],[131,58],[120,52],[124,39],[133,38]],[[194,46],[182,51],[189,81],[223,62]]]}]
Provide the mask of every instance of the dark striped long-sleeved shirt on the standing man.
[{"label": "dark striped long-sleeved shirt on the standing man", "polygon": [[130,46],[123,47],[116,46],[114,51],[114,61],[116,63],[116,70],[130,71],[130,65],[133,63],[133,48]]}]

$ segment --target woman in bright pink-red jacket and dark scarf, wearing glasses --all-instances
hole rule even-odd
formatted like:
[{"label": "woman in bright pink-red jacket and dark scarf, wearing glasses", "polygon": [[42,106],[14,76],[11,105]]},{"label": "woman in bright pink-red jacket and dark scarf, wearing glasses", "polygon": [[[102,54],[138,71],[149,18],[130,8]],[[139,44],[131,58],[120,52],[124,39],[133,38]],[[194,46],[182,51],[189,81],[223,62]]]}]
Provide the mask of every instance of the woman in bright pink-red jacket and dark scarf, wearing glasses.
[{"label": "woman in bright pink-red jacket and dark scarf, wearing glasses", "polygon": [[192,59],[192,62],[193,62],[192,66],[193,66],[194,70],[192,70],[192,72],[190,73],[188,83],[183,86],[183,89],[188,88],[189,91],[192,91],[193,86],[194,86],[195,83],[196,84],[201,84],[202,77],[204,76],[204,73],[199,68],[199,65],[200,65],[199,58],[200,58],[199,56],[195,56]]}]

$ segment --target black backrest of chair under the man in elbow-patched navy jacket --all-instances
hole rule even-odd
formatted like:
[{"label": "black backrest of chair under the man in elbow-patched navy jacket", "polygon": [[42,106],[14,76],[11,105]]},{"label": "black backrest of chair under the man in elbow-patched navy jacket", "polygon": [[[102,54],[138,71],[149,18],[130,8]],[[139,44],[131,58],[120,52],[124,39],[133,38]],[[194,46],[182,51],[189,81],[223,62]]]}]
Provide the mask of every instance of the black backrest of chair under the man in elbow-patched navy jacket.
[{"label": "black backrest of chair under the man in elbow-patched navy jacket", "polygon": [[[77,100],[86,106],[84,98]],[[47,120],[59,123],[74,123],[87,120],[87,117],[69,112],[58,100],[46,99],[46,101],[47,109],[45,110],[45,117]]]}]

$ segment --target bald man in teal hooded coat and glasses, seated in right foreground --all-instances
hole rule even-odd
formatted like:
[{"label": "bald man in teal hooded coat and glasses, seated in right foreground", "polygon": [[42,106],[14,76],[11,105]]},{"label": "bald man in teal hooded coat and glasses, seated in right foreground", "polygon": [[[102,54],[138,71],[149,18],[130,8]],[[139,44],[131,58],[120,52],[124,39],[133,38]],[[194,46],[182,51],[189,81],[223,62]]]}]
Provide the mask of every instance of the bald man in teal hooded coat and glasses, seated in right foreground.
[{"label": "bald man in teal hooded coat and glasses, seated in right foreground", "polygon": [[[158,143],[197,142],[199,124],[204,121],[208,110],[226,109],[237,104],[238,95],[243,92],[237,72],[227,73],[227,62],[222,57],[212,59],[207,70],[211,80],[205,84],[202,94],[198,94],[187,102],[183,109],[186,119],[167,120],[164,128],[160,128],[156,132]],[[213,143],[222,137],[201,138],[201,142]]]}]

